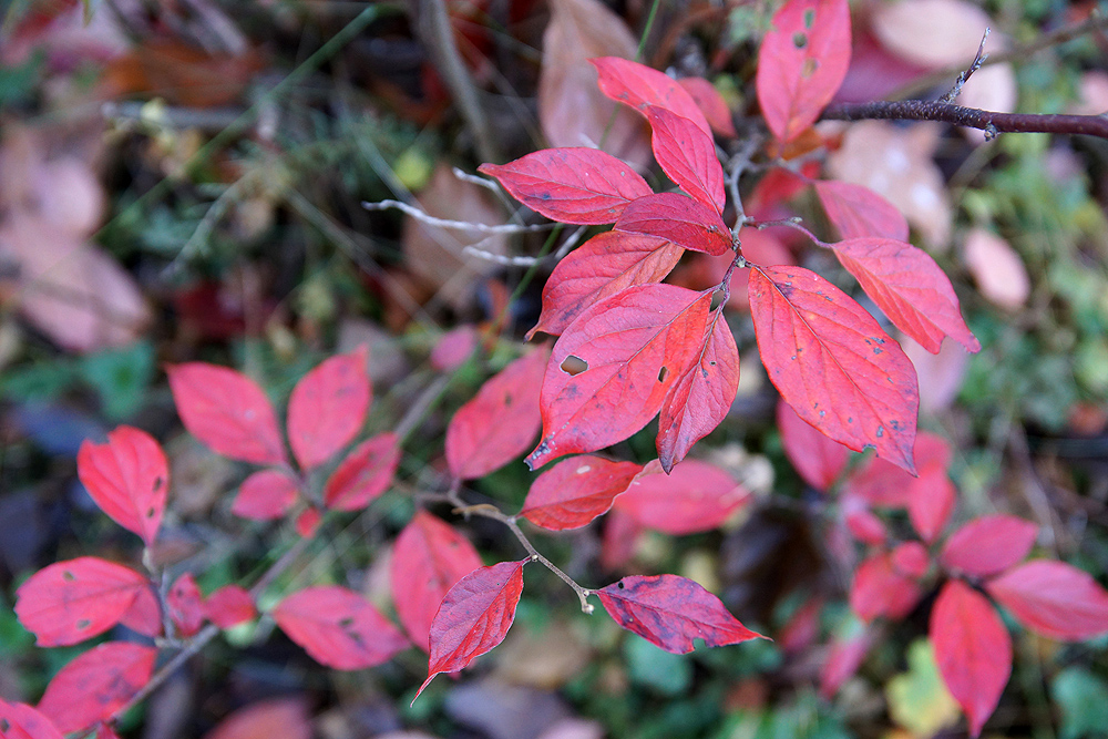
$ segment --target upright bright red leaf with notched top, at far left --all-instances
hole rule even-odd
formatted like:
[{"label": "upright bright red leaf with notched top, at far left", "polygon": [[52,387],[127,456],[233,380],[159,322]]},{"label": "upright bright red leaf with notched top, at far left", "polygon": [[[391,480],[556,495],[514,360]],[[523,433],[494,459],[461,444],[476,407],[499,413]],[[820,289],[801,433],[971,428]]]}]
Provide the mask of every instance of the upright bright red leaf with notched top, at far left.
[{"label": "upright bright red leaf with notched top, at far left", "polygon": [[170,491],[170,468],[153,437],[121,425],[107,433],[106,444],[85,440],[76,471],[101,511],[142,536],[146,546],[154,543]]}]

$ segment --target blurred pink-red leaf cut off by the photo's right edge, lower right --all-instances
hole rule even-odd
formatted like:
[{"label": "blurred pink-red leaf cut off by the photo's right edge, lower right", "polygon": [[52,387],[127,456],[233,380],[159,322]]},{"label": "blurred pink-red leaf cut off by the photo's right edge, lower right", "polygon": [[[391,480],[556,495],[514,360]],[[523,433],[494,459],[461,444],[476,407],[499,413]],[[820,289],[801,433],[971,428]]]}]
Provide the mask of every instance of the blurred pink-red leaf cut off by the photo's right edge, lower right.
[{"label": "blurred pink-red leaf cut off by the photo's right edge, lower right", "polygon": [[1108,634],[1108,591],[1065,562],[1027,562],[987,582],[985,589],[1036,634],[1064,642]]}]

